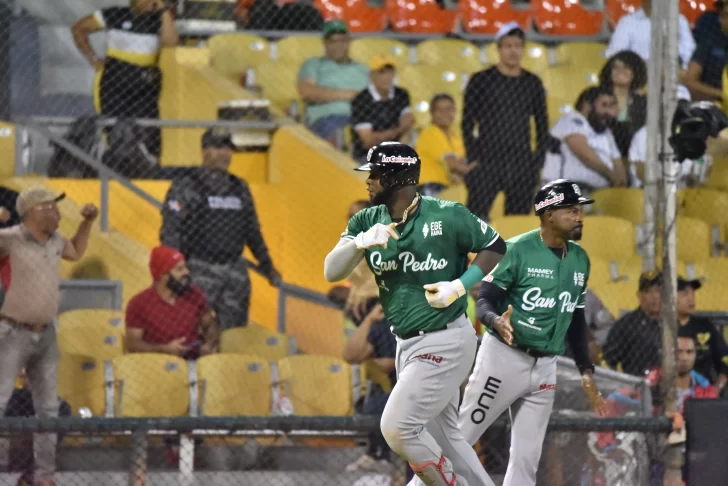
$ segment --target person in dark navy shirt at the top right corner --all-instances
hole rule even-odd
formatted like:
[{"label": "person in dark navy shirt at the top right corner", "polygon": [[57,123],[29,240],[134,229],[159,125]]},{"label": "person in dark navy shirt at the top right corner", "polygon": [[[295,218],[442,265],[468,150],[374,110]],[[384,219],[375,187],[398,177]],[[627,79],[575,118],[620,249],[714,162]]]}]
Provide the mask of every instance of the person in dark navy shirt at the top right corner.
[{"label": "person in dark navy shirt at the top right corner", "polygon": [[[728,48],[728,3],[717,0],[717,26],[708,28],[706,35],[697,40],[697,47],[685,73],[685,85],[695,100],[721,101],[723,99],[723,71]],[[701,17],[702,18],[702,17]],[[697,29],[697,25],[696,25]]]}]

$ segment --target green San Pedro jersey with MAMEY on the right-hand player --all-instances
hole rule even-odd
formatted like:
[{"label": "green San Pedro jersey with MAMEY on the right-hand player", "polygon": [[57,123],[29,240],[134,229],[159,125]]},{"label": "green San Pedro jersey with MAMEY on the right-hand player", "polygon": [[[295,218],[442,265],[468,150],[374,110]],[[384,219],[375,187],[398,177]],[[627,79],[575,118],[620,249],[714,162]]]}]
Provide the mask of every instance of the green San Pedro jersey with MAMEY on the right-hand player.
[{"label": "green San Pedro jersey with MAMEY on the right-hand player", "polygon": [[[506,291],[498,312],[513,306],[513,343],[544,353],[563,354],[564,337],[574,310],[584,307],[589,257],[573,241],[559,258],[541,240],[539,230],[506,241],[508,251],[484,280]],[[497,332],[488,329],[497,336]]]}]

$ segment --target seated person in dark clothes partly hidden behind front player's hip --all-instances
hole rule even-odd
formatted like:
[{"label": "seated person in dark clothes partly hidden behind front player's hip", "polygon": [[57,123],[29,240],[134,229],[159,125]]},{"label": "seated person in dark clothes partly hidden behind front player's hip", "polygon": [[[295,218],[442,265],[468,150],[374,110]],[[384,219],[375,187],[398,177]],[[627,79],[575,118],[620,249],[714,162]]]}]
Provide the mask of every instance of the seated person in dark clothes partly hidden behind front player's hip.
[{"label": "seated person in dark clothes partly hidden behind front player's hip", "polygon": [[[378,382],[375,384],[377,389],[364,400],[361,407],[362,414],[381,415],[384,411],[389,393],[397,381],[394,369],[396,348],[397,341],[390,331],[390,324],[384,317],[381,304],[377,303],[357,326],[344,348],[344,360],[347,363],[363,365],[371,360],[374,367],[372,379],[375,383]],[[392,459],[387,442],[381,432],[376,430],[369,435],[366,453],[349,464],[346,470],[348,472],[387,470]],[[411,478],[409,467],[408,472]]]}]

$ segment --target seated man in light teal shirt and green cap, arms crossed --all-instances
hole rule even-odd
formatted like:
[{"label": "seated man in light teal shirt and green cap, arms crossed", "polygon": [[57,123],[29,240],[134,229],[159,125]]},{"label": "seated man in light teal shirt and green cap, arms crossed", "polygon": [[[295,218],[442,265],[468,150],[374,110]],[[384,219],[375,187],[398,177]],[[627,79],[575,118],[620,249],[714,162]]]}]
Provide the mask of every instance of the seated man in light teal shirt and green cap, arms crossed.
[{"label": "seated man in light teal shirt and green cap, arms crossed", "polygon": [[367,67],[349,57],[349,29],[343,20],[324,23],[324,55],[307,59],[298,73],[298,93],[306,103],[306,125],[336,143],[349,124],[351,100],[367,86]]}]

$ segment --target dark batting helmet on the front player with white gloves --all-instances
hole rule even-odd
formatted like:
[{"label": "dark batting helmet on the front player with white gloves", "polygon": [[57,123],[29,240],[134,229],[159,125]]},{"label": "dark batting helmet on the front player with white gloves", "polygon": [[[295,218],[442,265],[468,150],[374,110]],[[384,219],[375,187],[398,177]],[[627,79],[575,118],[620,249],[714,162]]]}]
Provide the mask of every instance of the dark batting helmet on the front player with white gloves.
[{"label": "dark batting helmet on the front player with white gloves", "polygon": [[369,149],[367,162],[355,170],[370,172],[383,189],[416,186],[420,182],[420,156],[409,145],[382,142]]}]

